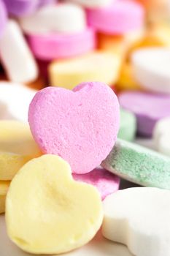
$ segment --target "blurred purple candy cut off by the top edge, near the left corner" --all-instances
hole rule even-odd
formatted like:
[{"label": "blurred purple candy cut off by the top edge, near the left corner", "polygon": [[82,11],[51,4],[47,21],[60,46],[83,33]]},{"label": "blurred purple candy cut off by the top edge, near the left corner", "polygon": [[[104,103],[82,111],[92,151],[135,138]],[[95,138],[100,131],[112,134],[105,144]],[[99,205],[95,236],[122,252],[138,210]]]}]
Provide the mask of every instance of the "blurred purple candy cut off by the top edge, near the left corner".
[{"label": "blurred purple candy cut off by the top edge, near the left corner", "polygon": [[10,15],[30,15],[45,4],[53,3],[54,0],[4,0]]}]

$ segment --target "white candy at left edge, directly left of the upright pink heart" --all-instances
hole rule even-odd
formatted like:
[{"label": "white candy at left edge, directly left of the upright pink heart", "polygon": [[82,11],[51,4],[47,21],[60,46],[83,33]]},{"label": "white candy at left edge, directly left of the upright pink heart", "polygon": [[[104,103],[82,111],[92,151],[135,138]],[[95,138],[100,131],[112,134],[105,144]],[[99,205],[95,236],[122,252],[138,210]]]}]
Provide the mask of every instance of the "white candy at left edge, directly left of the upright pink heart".
[{"label": "white candy at left edge, directly left of the upright pink heart", "polygon": [[[20,83],[0,82],[0,119],[28,121],[28,107],[36,94]],[[22,95],[22,97],[19,97]]]}]

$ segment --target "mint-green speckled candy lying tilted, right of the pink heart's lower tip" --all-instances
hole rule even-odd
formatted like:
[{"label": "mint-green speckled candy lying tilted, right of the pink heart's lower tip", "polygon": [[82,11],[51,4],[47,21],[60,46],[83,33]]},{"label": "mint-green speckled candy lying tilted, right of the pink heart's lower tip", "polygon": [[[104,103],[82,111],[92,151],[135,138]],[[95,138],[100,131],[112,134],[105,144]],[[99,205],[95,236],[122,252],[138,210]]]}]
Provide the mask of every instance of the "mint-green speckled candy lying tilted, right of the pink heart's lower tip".
[{"label": "mint-green speckled candy lying tilted, right of the pink heart's lower tip", "polygon": [[134,143],[117,140],[101,166],[136,184],[170,189],[170,158]]}]

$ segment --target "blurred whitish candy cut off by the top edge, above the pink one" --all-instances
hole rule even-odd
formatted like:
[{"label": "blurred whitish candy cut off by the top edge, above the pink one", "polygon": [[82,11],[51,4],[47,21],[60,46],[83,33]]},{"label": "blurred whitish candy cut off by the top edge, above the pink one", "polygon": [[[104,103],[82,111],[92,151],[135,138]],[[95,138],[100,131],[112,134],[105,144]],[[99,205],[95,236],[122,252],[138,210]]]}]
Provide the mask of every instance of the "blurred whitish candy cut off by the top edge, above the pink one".
[{"label": "blurred whitish candy cut off by the top edge, above the pink one", "polygon": [[105,7],[112,3],[112,0],[70,0],[76,4],[82,4],[84,7]]}]

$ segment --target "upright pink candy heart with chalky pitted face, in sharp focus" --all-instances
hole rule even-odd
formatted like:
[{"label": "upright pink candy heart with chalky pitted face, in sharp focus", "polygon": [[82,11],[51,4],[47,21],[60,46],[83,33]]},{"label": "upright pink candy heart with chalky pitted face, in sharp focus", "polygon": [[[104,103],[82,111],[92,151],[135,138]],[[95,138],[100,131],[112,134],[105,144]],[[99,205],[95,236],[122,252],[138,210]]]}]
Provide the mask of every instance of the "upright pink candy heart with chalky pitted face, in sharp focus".
[{"label": "upright pink candy heart with chalky pitted face, in sharp focus", "polygon": [[107,157],[117,139],[119,104],[104,83],[81,83],[73,91],[47,87],[28,111],[31,132],[45,154],[57,154],[73,173],[88,173]]}]

